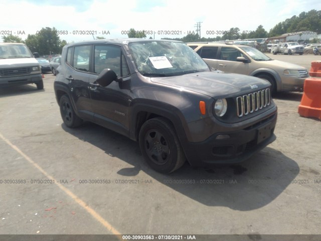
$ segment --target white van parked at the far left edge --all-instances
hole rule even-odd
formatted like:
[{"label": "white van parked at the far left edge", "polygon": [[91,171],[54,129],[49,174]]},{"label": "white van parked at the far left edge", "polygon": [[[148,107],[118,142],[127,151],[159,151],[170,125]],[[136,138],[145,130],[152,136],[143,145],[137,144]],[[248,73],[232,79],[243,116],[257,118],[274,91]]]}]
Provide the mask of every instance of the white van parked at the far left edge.
[{"label": "white van parked at the far left edge", "polygon": [[31,83],[44,88],[40,65],[27,45],[0,43],[0,87]]}]

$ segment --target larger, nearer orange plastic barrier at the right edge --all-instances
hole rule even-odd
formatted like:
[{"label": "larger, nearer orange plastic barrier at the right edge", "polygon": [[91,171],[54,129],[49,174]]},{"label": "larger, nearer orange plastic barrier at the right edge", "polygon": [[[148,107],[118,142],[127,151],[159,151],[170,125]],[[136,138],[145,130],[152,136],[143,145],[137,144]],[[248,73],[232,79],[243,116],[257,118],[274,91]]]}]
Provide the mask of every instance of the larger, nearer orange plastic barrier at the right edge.
[{"label": "larger, nearer orange plastic barrier at the right edge", "polygon": [[297,112],[301,116],[316,117],[321,120],[321,79],[305,79],[303,89]]}]

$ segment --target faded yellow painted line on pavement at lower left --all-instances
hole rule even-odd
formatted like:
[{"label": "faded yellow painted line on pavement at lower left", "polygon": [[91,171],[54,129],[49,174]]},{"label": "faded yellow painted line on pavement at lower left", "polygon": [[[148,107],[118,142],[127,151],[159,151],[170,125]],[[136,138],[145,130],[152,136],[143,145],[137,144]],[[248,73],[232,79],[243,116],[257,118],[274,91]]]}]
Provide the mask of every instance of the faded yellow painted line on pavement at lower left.
[{"label": "faded yellow painted line on pavement at lower left", "polygon": [[84,208],[87,212],[90,213],[97,221],[99,221],[104,227],[106,227],[112,234],[117,235],[117,237],[120,240],[123,240],[121,237],[120,232],[114,228],[108,221],[106,221],[102,216],[100,216],[94,209],[88,206],[83,200],[81,200],[77,195],[75,195],[72,191],[70,191],[68,188],[64,187],[60,183],[57,182],[57,180],[51,176],[49,173],[47,173],[41,166],[39,166],[36,162],[34,162],[30,157],[28,157],[25,153],[23,153],[17,146],[12,144],[7,138],[5,138],[0,133],[0,138],[4,140],[12,149],[14,149],[16,152],[18,152],[21,156],[23,156],[28,162],[30,162],[34,167],[36,167],[40,172],[42,172],[48,179],[55,180],[55,184],[63,190],[68,196],[70,196],[75,202],[77,202],[82,208]]}]

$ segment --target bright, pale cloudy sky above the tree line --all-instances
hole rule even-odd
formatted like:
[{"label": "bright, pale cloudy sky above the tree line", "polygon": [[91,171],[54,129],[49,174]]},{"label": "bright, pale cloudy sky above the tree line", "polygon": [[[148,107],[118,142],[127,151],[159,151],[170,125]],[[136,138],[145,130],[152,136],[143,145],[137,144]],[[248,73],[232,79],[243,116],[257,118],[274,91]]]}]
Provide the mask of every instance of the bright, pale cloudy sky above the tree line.
[{"label": "bright, pale cloudy sky above the tree line", "polygon": [[201,36],[216,37],[216,34],[206,34],[207,31],[228,31],[232,27],[238,27],[241,32],[254,31],[259,25],[263,25],[264,29],[269,31],[277,23],[312,9],[321,10],[321,2],[319,0],[192,2],[2,0],[0,34],[24,33],[19,37],[26,39],[28,34],[36,34],[42,28],[55,27],[67,33],[60,35],[62,40],[71,42],[93,39],[92,35],[77,34],[77,31],[94,33],[95,37],[126,38],[127,35],[123,32],[134,28],[155,33],[155,35],[147,34],[147,38],[177,38],[189,32],[196,32],[196,23],[202,22]]}]

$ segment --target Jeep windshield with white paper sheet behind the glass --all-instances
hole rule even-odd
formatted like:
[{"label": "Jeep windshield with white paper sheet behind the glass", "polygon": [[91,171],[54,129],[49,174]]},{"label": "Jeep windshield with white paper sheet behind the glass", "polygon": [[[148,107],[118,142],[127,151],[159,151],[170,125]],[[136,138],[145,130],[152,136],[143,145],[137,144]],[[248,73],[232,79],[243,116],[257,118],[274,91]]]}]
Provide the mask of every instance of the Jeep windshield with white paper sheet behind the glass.
[{"label": "Jeep windshield with white paper sheet behind the glass", "polygon": [[145,76],[176,76],[210,71],[203,59],[185,43],[150,41],[130,43],[138,71]]}]

